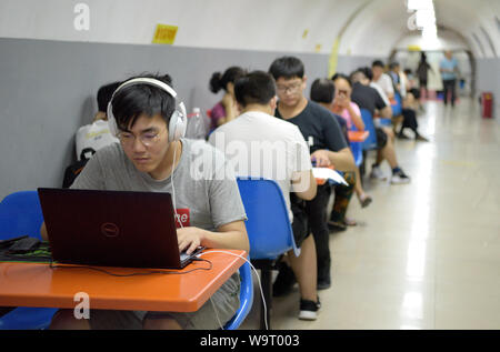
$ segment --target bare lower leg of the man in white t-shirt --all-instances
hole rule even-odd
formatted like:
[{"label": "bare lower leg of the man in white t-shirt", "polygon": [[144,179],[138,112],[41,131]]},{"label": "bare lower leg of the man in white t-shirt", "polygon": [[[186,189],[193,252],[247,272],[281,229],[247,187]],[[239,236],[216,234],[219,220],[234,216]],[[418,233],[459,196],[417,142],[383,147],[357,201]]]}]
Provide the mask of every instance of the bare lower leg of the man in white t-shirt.
[{"label": "bare lower leg of the man in white t-shirt", "polygon": [[316,302],[318,300],[317,291],[317,260],[316,244],[312,235],[309,235],[302,242],[300,255],[296,257],[292,251],[288,252],[288,260],[297,282],[299,283],[300,296],[302,300]]}]

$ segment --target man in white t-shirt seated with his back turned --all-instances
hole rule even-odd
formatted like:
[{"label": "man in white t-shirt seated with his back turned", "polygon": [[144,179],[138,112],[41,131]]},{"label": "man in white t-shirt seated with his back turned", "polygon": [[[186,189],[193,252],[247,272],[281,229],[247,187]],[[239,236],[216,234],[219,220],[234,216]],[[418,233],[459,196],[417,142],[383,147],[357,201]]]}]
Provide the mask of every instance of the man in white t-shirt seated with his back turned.
[{"label": "man in white t-shirt seated with his back turned", "polygon": [[[242,111],[241,115],[213,131],[209,143],[223,151],[231,150],[227,157],[234,164],[237,175],[262,177],[277,181],[292,223],[294,202],[290,198],[311,200],[317,192],[306,140],[297,125],[274,118],[276,83],[269,73],[254,71],[239,78],[234,82],[234,94]],[[261,157],[272,162],[266,162],[261,167]],[[256,160],[259,160],[259,164],[251,164]],[[296,230],[296,227],[292,228]],[[316,320],[319,299],[314,240],[309,233],[297,232],[294,231],[294,237],[301,247],[301,254],[296,257],[292,250],[287,254],[299,282],[299,319]]]}]

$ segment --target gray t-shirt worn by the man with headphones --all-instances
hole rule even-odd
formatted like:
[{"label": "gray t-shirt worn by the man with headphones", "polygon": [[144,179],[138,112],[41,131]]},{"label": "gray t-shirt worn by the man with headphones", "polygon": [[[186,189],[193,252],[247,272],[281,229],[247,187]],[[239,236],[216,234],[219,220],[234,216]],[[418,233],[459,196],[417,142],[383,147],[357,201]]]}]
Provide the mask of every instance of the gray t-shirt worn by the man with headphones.
[{"label": "gray t-shirt worn by the man with headphones", "polygon": [[[247,220],[233,168],[223,153],[204,141],[181,142],[182,155],[173,171],[173,184],[174,205],[182,224],[214,231]],[[121,145],[113,143],[92,157],[71,188],[172,194],[172,175],[154,180],[138,171]]]}]

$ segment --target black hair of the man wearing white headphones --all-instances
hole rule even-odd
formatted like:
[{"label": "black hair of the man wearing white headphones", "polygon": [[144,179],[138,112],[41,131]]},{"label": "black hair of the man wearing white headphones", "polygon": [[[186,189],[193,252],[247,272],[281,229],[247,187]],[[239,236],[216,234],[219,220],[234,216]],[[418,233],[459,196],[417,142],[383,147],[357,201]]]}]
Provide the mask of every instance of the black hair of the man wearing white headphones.
[{"label": "black hair of the man wearing white headphones", "polygon": [[[172,86],[170,76],[141,74]],[[137,78],[137,77],[133,77]],[[132,79],[132,78],[130,78]],[[123,81],[126,82],[126,81]],[[154,117],[160,114],[169,124],[170,117],[176,110],[176,98],[166,90],[148,83],[133,84],[120,89],[112,100],[113,115],[120,130],[127,131],[133,127],[141,115]]]}]

